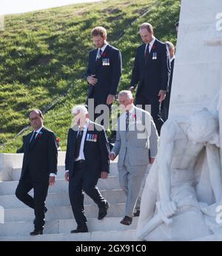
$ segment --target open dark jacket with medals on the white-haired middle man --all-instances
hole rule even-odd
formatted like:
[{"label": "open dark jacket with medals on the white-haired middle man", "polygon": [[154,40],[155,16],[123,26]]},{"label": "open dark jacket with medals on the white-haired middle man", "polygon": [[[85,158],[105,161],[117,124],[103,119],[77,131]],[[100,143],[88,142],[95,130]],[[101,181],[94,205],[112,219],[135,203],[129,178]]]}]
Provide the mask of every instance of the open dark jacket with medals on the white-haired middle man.
[{"label": "open dark jacket with medals on the white-haired middle man", "polygon": [[[74,126],[73,128],[70,128],[68,132],[65,165],[66,170],[69,170],[70,177],[72,177],[75,172],[74,156],[77,131],[78,126]],[[95,177],[101,177],[101,171],[110,172],[110,148],[103,126],[90,121],[87,134],[84,141],[84,157],[87,163],[87,174],[95,179]],[[90,136],[96,137],[96,141],[90,141]]]}]

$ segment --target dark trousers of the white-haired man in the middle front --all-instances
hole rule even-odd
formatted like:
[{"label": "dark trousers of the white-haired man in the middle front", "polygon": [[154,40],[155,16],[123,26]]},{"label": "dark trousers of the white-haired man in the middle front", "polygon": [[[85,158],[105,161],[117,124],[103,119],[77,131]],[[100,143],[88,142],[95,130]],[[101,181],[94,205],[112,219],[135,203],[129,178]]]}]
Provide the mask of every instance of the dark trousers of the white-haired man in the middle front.
[{"label": "dark trousers of the white-haired man in the middle front", "polygon": [[101,196],[98,187],[98,177],[92,177],[87,172],[87,165],[85,163],[74,163],[75,173],[70,177],[69,195],[70,203],[73,209],[73,215],[78,227],[85,226],[87,218],[84,214],[84,193],[98,205],[99,208],[104,207],[106,200]]}]

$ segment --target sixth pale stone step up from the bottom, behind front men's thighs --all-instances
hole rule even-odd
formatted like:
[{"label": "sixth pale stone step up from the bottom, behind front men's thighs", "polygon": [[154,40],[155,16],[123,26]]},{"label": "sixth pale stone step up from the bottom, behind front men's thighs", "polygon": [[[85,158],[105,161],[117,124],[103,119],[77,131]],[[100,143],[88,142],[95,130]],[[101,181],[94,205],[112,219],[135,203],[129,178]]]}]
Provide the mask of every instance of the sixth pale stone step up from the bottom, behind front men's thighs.
[{"label": "sixth pale stone step up from the bottom, behind front men's thighs", "polygon": [[[57,173],[57,178],[58,179],[63,179],[65,174],[65,166],[64,165],[59,165],[58,166],[58,173]],[[12,180],[19,180],[21,175],[21,168],[13,168],[12,171]],[[117,163],[110,163],[110,175],[118,175],[118,167]]]}]

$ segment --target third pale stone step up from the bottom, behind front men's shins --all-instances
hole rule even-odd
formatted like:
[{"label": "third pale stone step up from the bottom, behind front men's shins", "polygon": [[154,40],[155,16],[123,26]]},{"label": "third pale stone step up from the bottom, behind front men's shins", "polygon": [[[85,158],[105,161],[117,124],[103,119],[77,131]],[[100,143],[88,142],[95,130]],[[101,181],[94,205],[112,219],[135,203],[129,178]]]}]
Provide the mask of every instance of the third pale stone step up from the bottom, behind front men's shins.
[{"label": "third pale stone step up from the bottom, behind front men's shins", "polygon": [[[93,205],[84,205],[85,214],[87,217],[98,217],[98,206],[93,203]],[[110,208],[107,212],[107,217],[123,217],[125,210],[125,203],[110,203]],[[1,212],[1,219],[4,223],[7,222],[17,222],[17,221],[32,221],[34,216],[33,209],[21,208],[21,209],[4,209]],[[46,220],[69,220],[73,219],[73,211],[71,206],[57,206],[53,208],[48,208],[46,214]]]}]

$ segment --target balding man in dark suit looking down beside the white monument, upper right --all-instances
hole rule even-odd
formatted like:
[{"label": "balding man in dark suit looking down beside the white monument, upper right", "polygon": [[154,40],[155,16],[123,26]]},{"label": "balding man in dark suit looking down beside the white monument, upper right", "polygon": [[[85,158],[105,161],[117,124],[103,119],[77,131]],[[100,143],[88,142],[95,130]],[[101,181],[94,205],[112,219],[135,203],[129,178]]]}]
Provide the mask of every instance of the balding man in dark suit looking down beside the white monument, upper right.
[{"label": "balding man in dark suit looking down beside the white monument, upper right", "polygon": [[166,44],[155,38],[151,24],[141,24],[140,35],[144,44],[136,52],[129,90],[134,91],[138,84],[135,105],[142,105],[144,110],[145,105],[151,105],[152,118],[160,134],[162,123],[158,114],[169,82],[169,51]]}]

